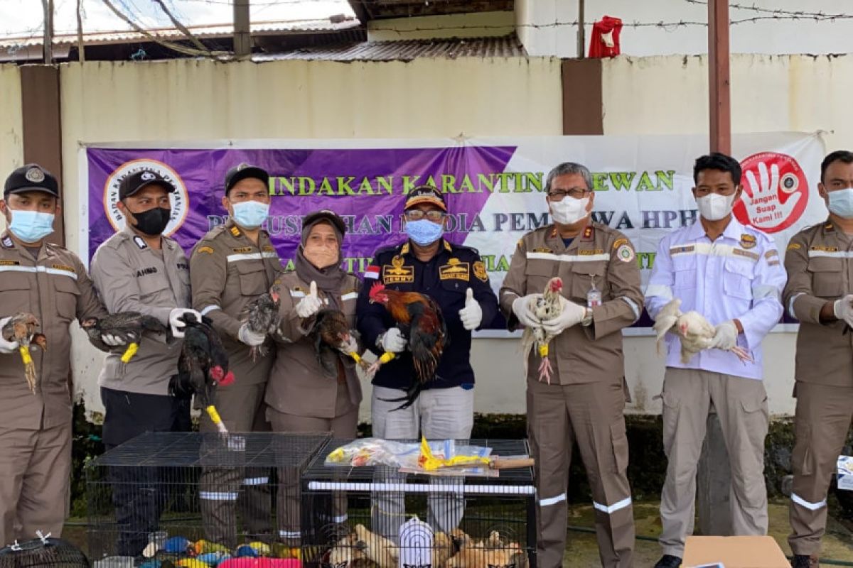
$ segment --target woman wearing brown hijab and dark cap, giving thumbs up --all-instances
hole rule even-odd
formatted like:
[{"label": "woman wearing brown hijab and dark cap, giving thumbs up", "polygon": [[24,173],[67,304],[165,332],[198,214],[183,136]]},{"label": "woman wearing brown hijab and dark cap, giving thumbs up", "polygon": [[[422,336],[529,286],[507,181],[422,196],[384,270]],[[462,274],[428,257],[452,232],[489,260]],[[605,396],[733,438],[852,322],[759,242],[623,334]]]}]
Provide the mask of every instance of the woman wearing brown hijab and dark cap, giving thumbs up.
[{"label": "woman wearing brown hijab and dark cap, giving thumbs up", "polygon": [[[265,399],[267,420],[275,432],[331,432],[340,439],[356,437],[362,389],[356,363],[348,353],[359,351],[352,330],[362,283],[340,267],[345,230],[344,221],[328,209],[305,216],[295,269],[281,273],[276,280],[281,336],[276,337],[276,363]],[[321,362],[309,334],[317,313],[328,308],[344,313],[350,336],[340,349],[323,353]],[[279,537],[298,545],[299,485],[293,476],[289,469],[280,471]],[[335,501],[330,524],[345,520],[340,500]]]}]

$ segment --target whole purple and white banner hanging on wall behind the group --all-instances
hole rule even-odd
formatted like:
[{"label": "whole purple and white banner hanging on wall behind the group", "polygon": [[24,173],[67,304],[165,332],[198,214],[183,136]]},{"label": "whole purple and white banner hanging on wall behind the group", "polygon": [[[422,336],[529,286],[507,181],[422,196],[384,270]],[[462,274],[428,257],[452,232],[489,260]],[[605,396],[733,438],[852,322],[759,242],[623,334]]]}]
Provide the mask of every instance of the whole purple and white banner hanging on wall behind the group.
[{"label": "whole purple and white banner hanging on wall behind the group", "polygon": [[[592,171],[593,217],[633,241],[645,285],[659,239],[697,218],[693,161],[706,152],[704,135],[84,146],[81,182],[89,199],[81,250],[91,257],[123,226],[115,207],[119,182],[144,167],[178,187],[166,232],[189,253],[226,220],[224,175],[245,162],[270,172],[265,228],[285,267],[293,266],[302,217],[332,209],[347,226],[344,267],[363,273],[375,250],[405,239],[406,193],[432,184],[447,200],[446,238],[479,250],[497,290],[519,238],[551,222],[544,193],[548,170],[572,161]],[[734,135],[733,153],[744,168],[735,215],[769,232],[780,252],[792,234],[826,218],[817,194],[824,155],[819,134]]]}]

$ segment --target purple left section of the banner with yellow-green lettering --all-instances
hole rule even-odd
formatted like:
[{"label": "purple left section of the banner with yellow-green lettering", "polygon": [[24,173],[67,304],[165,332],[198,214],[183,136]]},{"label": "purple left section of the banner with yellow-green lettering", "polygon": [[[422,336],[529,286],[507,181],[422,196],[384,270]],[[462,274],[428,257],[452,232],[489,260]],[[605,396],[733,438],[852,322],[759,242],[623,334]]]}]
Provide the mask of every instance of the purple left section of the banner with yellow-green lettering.
[{"label": "purple left section of the banner with yellow-green lettering", "polygon": [[[115,208],[119,182],[138,169],[154,168],[178,187],[172,195],[167,234],[189,250],[224,222],[224,176],[243,162],[270,172],[272,197],[265,228],[285,264],[299,244],[301,219],[332,209],[347,224],[345,268],[362,273],[375,250],[403,241],[404,196],[432,182],[445,192],[447,238],[463,243],[473,219],[500,186],[514,146],[316,150],[128,149],[86,150],[89,179],[90,258],[124,221]],[[505,181],[504,181],[505,182]]]}]

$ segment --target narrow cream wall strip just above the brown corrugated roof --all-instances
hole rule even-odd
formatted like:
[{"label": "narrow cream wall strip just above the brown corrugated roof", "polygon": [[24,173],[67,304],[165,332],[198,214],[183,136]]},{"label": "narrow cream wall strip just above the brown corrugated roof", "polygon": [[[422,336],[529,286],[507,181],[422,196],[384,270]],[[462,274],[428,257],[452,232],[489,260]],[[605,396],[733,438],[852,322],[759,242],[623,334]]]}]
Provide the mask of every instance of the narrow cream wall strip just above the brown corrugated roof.
[{"label": "narrow cream wall strip just above the brown corrugated roof", "polygon": [[433,37],[492,37],[514,32],[512,11],[473,12],[368,22],[368,41],[387,42]]}]

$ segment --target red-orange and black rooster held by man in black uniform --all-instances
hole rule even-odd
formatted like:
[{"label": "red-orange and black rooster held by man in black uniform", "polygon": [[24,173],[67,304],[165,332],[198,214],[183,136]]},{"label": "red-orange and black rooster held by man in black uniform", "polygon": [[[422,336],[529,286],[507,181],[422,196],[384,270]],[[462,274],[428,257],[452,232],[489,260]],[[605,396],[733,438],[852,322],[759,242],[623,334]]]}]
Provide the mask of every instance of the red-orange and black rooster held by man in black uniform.
[{"label": "red-orange and black rooster held by man in black uniform", "polygon": [[409,408],[415,403],[424,384],[435,379],[438,361],[447,344],[447,326],[441,308],[427,295],[417,292],[388,290],[385,284],[377,282],[370,288],[368,295],[371,303],[382,304],[403,335],[409,336],[409,351],[415,364],[415,381],[406,390],[405,401],[395,410]]}]

